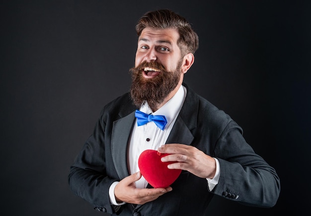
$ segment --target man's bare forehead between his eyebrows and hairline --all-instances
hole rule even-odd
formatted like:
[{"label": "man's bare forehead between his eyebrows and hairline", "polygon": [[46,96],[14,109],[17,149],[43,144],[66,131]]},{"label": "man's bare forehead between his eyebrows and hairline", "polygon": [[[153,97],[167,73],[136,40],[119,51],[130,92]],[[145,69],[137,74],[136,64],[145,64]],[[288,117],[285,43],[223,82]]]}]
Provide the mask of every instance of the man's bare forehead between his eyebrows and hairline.
[{"label": "man's bare forehead between his eyebrows and hairline", "polygon": [[145,28],[138,41],[167,42],[177,44],[179,33],[176,28]]}]

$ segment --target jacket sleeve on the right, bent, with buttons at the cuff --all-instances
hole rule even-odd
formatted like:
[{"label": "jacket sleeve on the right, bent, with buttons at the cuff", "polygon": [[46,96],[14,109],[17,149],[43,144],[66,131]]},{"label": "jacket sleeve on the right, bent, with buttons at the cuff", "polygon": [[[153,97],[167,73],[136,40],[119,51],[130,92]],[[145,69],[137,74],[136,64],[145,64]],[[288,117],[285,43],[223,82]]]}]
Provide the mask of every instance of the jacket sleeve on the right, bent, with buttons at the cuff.
[{"label": "jacket sleeve on the right, bent, with buttons at the cuff", "polygon": [[257,155],[231,120],[215,145],[221,174],[214,193],[243,205],[273,207],[280,194],[274,168]]}]

